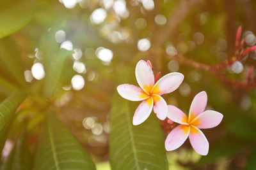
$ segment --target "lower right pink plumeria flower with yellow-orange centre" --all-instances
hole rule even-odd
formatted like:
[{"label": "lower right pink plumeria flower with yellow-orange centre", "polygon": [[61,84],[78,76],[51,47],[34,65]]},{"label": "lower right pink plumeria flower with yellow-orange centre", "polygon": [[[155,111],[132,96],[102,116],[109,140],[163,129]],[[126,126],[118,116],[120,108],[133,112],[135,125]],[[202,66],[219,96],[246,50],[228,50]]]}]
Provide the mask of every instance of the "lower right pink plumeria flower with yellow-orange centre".
[{"label": "lower right pink plumeria flower with yellow-orange centre", "polygon": [[205,110],[207,104],[206,92],[200,92],[191,103],[189,116],[187,117],[179,108],[168,105],[167,117],[180,125],[175,127],[165,140],[165,148],[168,151],[179,148],[187,138],[200,155],[207,155],[209,143],[200,129],[216,127],[220,124],[223,115],[217,111]]}]

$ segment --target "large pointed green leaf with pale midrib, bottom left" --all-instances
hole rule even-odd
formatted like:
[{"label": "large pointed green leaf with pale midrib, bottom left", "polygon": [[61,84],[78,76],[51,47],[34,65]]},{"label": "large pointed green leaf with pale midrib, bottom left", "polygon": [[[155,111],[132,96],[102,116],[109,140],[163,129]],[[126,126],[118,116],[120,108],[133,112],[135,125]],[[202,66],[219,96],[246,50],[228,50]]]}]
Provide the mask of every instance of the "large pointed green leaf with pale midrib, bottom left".
[{"label": "large pointed green leaf with pale midrib, bottom left", "polygon": [[95,169],[90,156],[76,138],[47,111],[33,169]]}]

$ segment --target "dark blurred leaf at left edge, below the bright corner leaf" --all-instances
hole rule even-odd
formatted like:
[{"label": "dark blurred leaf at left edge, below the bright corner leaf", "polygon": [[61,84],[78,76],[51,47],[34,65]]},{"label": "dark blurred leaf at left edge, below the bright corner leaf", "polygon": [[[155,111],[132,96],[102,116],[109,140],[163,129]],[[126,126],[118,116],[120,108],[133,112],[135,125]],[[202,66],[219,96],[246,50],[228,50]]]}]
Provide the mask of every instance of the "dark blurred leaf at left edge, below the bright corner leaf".
[{"label": "dark blurred leaf at left edge, below the bright corner leaf", "polygon": [[13,83],[19,83],[23,88],[26,87],[20,52],[10,37],[0,39],[0,66],[1,75],[4,78],[10,81],[15,80]]}]

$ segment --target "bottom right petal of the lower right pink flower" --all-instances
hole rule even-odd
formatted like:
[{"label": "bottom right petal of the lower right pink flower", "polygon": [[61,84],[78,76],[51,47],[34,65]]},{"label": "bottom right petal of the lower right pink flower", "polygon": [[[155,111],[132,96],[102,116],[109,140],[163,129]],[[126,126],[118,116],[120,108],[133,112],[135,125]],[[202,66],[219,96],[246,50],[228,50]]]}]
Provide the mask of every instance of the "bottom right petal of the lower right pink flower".
[{"label": "bottom right petal of the lower right pink flower", "polygon": [[189,132],[189,141],[195,152],[200,155],[207,155],[209,151],[209,143],[202,131],[191,125]]}]

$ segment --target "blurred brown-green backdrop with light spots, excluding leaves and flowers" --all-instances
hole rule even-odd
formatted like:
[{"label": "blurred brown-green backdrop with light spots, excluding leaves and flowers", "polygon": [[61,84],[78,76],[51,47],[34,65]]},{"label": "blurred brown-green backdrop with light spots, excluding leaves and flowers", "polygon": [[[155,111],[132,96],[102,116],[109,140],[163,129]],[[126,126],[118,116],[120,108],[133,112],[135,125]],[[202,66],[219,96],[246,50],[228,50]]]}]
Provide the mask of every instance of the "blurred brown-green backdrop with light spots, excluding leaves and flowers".
[{"label": "blurred brown-green backdrop with light spots, excluding leaves and flowers", "polygon": [[[250,169],[256,161],[256,92],[255,85],[246,85],[255,77],[256,53],[221,71],[204,71],[182,59],[207,65],[232,59],[239,25],[244,45],[255,45],[255,18],[252,0],[38,0],[29,24],[1,43],[22,56],[24,78],[32,91],[40,89],[44,79],[44,55],[51,58],[55,48],[74,50],[51,106],[99,169],[109,168],[109,111],[118,78],[127,68],[134,71],[140,59],[151,60],[155,73],[161,71],[162,76],[173,71],[184,74],[180,88],[164,96],[168,104],[188,113],[193,97],[205,90],[207,109],[224,115],[218,127],[203,131],[209,155],[201,157],[186,141],[168,153],[170,169]],[[0,98],[7,95],[3,91]],[[31,95],[21,106],[29,108],[17,121],[31,120],[30,150],[38,141],[44,105],[44,98]],[[15,127],[2,159],[10,152],[13,136]]]}]

